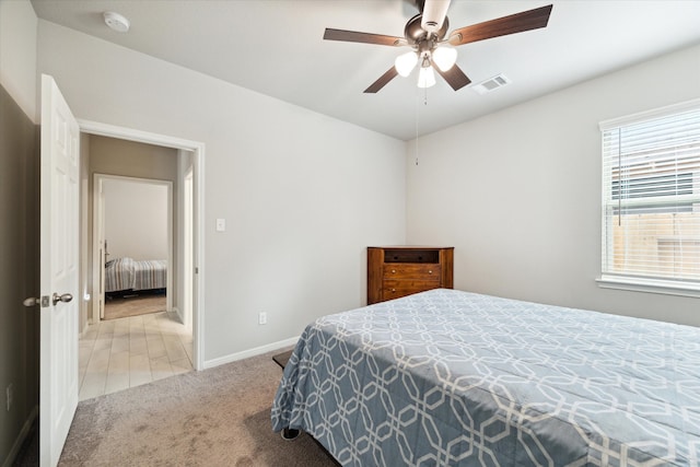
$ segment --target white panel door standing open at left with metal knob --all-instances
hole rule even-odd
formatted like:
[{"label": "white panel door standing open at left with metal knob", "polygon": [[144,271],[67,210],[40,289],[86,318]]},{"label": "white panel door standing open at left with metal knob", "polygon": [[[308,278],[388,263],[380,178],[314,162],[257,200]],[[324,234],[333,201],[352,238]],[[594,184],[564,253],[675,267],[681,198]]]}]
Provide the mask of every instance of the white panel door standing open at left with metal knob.
[{"label": "white panel door standing open at left with metal knob", "polygon": [[51,467],[78,407],[79,140],[56,82],[42,75],[39,463]]}]

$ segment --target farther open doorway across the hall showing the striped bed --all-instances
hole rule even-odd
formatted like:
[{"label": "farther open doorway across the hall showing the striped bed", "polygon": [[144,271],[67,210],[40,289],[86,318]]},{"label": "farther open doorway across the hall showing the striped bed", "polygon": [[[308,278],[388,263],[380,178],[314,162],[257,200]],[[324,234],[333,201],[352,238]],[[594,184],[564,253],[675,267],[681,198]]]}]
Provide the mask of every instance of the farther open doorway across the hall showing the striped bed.
[{"label": "farther open doorway across the hall showing the striped bed", "polygon": [[93,186],[100,319],[173,311],[173,182],[94,174]]}]

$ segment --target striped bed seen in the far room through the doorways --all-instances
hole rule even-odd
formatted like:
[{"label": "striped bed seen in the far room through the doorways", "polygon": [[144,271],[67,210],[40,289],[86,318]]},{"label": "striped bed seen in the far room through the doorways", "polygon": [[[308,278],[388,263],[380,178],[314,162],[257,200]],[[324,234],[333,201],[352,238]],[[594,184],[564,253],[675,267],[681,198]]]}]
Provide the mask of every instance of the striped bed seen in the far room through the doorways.
[{"label": "striped bed seen in the far room through the doorways", "polygon": [[105,292],[124,293],[160,290],[167,287],[167,261],[117,258],[105,265]]}]

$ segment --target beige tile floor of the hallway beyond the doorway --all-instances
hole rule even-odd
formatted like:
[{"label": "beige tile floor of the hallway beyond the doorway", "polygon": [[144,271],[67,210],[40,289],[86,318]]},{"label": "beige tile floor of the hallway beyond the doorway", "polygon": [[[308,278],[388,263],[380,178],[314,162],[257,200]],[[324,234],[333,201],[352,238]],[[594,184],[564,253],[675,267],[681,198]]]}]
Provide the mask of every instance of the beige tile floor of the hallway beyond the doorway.
[{"label": "beige tile floor of the hallway beyond the doorway", "polygon": [[167,312],[91,325],[79,350],[79,400],[192,371],[191,331]]}]

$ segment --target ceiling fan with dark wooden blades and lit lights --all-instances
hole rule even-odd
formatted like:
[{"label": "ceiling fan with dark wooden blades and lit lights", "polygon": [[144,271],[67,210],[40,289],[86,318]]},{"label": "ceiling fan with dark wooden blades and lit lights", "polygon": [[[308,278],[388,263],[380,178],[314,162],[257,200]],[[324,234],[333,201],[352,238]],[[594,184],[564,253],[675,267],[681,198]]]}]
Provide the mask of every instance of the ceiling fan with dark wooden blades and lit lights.
[{"label": "ceiling fan with dark wooden blades and lit lights", "polygon": [[457,91],[469,84],[471,80],[455,65],[457,50],[450,46],[460,46],[492,37],[546,27],[552,8],[549,4],[472,24],[454,30],[445,38],[450,28],[450,21],[446,16],[450,0],[416,0],[416,3],[420,13],[406,23],[404,27],[405,37],[326,28],[324,34],[324,39],[326,40],[376,44],[390,47],[405,46],[413,49],[397,57],[395,66],[364,90],[365,93],[376,93],[396,78],[397,74],[409,75],[417,63],[420,63],[419,87],[430,87],[435,84],[434,69],[447,81],[452,89]]}]

